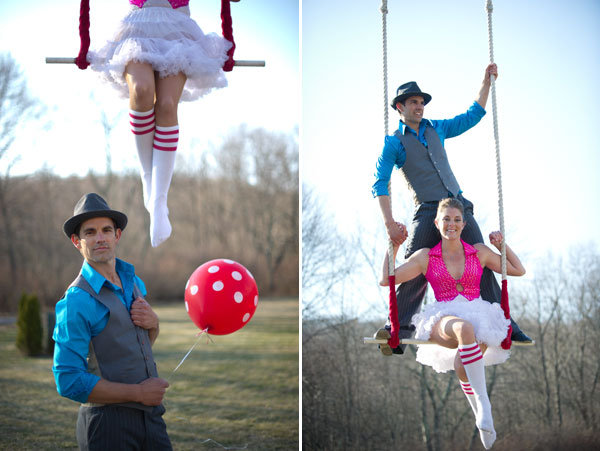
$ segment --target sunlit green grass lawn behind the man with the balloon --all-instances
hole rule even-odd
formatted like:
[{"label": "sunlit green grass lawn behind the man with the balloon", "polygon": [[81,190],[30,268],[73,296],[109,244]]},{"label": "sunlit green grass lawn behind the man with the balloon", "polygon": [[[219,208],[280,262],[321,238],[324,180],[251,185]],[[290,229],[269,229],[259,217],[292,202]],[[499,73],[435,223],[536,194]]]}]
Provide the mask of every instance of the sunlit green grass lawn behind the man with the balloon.
[{"label": "sunlit green grass lawn behind the man with the balloon", "polygon": [[[296,299],[261,300],[246,327],[201,338],[175,373],[199,331],[182,303],[155,310],[154,356],[171,384],[164,419],[175,450],[221,449],[214,442],[298,449]],[[76,449],[79,405],[56,392],[52,359],[21,356],[15,337],[15,325],[0,325],[0,449]]]}]

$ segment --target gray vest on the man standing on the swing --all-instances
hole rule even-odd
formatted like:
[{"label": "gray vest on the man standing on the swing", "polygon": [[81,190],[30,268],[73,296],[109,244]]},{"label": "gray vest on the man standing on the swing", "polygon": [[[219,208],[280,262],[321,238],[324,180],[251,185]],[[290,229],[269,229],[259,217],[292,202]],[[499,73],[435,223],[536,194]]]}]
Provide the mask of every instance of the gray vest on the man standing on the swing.
[{"label": "gray vest on the man standing on the swing", "polygon": [[406,162],[400,168],[413,192],[415,203],[439,201],[449,194],[456,196],[460,190],[450,169],[446,149],[433,127],[425,127],[425,147],[412,133],[394,135],[406,150]]}]

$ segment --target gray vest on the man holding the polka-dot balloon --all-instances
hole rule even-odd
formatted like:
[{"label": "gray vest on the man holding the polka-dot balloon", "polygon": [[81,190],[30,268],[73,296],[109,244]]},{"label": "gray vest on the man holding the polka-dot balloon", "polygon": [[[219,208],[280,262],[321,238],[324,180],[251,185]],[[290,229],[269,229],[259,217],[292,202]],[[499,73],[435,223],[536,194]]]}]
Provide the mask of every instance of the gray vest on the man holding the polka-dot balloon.
[{"label": "gray vest on the man holding the polka-dot balloon", "polygon": [[[96,293],[81,274],[71,286],[81,288],[110,311],[106,327],[90,341],[88,371],[108,381],[124,384],[137,384],[149,377],[158,377],[148,331],[133,324],[119,297],[106,286]],[[134,284],[133,297],[138,296],[141,292]],[[151,406],[136,402],[119,405],[148,412],[152,410]]]}]

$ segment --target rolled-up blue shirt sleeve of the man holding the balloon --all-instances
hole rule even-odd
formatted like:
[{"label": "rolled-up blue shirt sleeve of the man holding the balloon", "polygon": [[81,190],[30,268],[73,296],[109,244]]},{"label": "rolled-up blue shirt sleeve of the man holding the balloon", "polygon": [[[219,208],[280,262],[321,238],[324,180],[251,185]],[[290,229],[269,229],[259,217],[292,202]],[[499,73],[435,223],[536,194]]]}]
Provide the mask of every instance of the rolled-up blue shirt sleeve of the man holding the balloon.
[{"label": "rolled-up blue shirt sleeve of the man holding the balloon", "polygon": [[[90,299],[81,290],[70,288],[66,296],[56,304],[52,371],[58,393],[77,402],[86,402],[100,380],[87,370],[92,325],[81,306],[86,302],[90,304]],[[78,307],[73,308],[75,305]]]}]

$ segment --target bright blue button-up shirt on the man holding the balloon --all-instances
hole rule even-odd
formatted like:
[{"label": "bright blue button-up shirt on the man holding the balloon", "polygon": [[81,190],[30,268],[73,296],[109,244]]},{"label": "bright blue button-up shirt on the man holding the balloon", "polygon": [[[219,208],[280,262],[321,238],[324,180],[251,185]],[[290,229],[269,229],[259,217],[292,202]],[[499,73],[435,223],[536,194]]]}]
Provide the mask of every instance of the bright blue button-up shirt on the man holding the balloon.
[{"label": "bright blue button-up shirt on the man holding the balloon", "polygon": [[[133,265],[116,259],[117,274],[121,278],[119,288],[84,261],[81,274],[92,289],[99,293],[107,286],[130,310],[133,303],[133,284],[146,295],[144,282],[135,275]],[[86,402],[100,378],[87,371],[89,344],[106,327],[109,310],[88,293],[71,287],[56,304],[56,326],[52,338],[54,346],[54,380],[58,393],[73,401]]]}]

